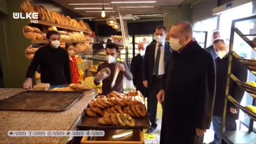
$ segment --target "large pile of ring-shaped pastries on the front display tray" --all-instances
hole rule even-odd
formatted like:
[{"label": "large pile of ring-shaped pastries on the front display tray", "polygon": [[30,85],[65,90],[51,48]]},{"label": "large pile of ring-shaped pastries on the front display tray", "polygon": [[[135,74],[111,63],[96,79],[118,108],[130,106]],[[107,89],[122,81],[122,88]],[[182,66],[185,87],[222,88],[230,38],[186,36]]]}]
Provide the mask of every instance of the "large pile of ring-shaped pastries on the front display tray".
[{"label": "large pile of ring-shaped pastries on the front display tray", "polygon": [[134,126],[133,118],[147,116],[144,97],[140,91],[121,94],[111,92],[98,95],[89,103],[86,114],[90,117],[102,116],[98,119],[101,125]]}]

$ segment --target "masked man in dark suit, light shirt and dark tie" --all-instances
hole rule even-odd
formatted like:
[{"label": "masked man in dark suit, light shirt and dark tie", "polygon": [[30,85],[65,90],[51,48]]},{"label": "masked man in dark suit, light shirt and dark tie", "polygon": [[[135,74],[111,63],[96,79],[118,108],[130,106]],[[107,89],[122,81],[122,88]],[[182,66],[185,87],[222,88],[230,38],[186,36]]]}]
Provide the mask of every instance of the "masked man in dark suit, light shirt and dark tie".
[{"label": "masked man in dark suit, light shirt and dark tie", "polygon": [[156,95],[164,87],[171,55],[170,45],[165,42],[166,28],[164,26],[156,27],[154,35],[157,43],[147,46],[142,73],[143,85],[149,88],[148,117],[151,122],[151,129],[147,131],[148,133],[154,132],[157,127]]}]

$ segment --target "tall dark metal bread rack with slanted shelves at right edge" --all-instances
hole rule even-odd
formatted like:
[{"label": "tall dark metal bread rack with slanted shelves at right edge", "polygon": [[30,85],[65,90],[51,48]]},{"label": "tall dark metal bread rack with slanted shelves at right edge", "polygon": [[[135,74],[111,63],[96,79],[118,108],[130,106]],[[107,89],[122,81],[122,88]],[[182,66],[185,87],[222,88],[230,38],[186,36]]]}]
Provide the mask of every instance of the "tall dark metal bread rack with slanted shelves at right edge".
[{"label": "tall dark metal bread rack with slanted shelves at right edge", "polygon": [[[229,52],[231,53],[229,56],[229,67],[228,67],[228,80],[227,80],[227,89],[226,89],[226,97],[225,97],[225,106],[223,111],[223,119],[222,119],[222,143],[256,143],[256,133],[253,131],[253,123],[256,121],[256,114],[252,113],[249,109],[241,106],[233,97],[232,95],[229,95],[229,84],[230,80],[232,79],[235,81],[239,86],[242,86],[244,90],[249,93],[253,99],[252,99],[252,105],[255,106],[255,95],[256,94],[256,88],[250,85],[247,85],[246,83],[242,83],[239,81],[238,78],[236,78],[231,73],[231,67],[232,67],[232,59],[238,59],[241,63],[247,66],[248,70],[251,72],[256,71],[256,67],[254,69],[254,65],[256,66],[256,61],[254,60],[248,60],[243,59],[239,57],[236,52],[233,51],[234,48],[234,36],[235,33],[241,37],[249,46],[252,47],[254,51],[256,51],[255,46],[253,45],[253,41],[251,41],[247,36],[256,36],[256,34],[249,34],[244,35],[238,28],[236,28],[236,22],[240,21],[250,21],[254,22],[256,21],[256,15],[253,15],[252,17],[237,19],[232,21],[231,25],[231,34],[230,34],[230,44],[229,44]],[[255,73],[253,73],[255,75]],[[247,114],[250,117],[250,124],[249,124],[249,130],[245,132],[241,131],[232,131],[232,132],[226,132],[224,131],[225,122],[226,122],[226,114],[227,114],[227,103],[228,100],[231,101],[234,105],[239,107],[245,114]]]}]

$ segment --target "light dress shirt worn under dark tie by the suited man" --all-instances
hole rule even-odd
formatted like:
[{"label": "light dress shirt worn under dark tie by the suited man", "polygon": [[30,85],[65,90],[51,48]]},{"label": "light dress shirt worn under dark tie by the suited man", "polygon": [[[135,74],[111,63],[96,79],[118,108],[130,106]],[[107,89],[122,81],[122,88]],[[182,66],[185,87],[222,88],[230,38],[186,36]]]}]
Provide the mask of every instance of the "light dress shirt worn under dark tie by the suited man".
[{"label": "light dress shirt worn under dark tie by the suited man", "polygon": [[[160,54],[159,67],[158,67],[158,75],[163,75],[164,74],[164,43],[165,42],[163,42],[162,46],[161,46],[161,54]],[[155,61],[154,62],[156,62],[156,55],[157,55],[158,48],[159,48],[159,43],[156,43]],[[155,75],[155,70],[154,70],[154,75]]]}]

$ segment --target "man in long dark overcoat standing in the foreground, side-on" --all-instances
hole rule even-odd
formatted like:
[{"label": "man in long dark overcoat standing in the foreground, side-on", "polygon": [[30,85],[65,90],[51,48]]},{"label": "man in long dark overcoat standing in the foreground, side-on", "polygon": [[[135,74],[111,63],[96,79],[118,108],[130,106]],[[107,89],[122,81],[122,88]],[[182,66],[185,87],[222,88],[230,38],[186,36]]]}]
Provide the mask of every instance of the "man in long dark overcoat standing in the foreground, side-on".
[{"label": "man in long dark overcoat standing in the foreground, side-on", "polygon": [[215,64],[209,52],[193,41],[189,22],[169,32],[170,58],[165,89],[157,94],[163,105],[160,143],[203,143],[210,128],[215,95]]}]

